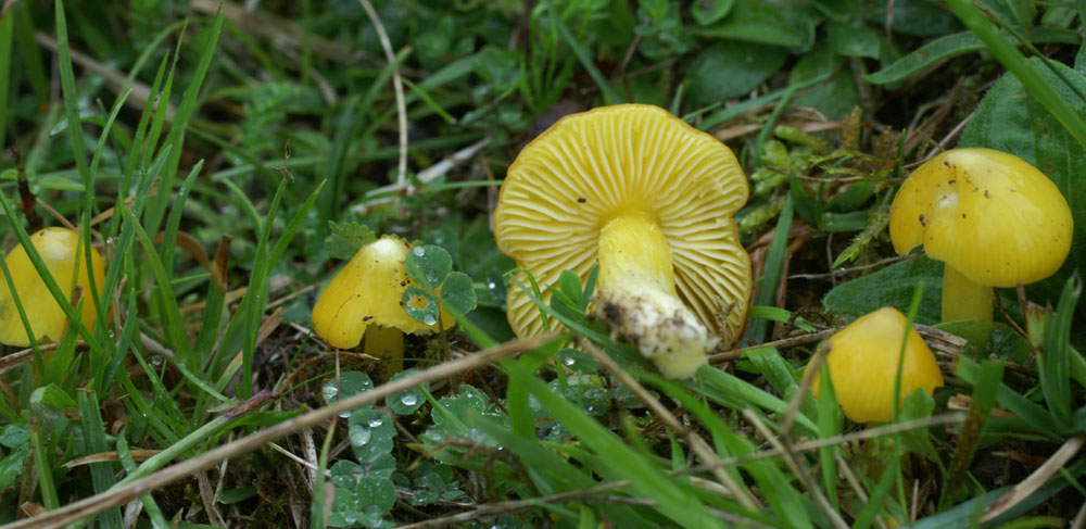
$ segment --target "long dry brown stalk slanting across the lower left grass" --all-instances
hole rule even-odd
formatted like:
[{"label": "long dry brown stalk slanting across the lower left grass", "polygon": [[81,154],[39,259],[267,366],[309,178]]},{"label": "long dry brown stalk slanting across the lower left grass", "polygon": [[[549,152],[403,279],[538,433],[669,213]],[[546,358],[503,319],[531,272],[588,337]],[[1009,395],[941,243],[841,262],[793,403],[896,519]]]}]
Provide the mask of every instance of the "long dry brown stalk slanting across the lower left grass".
[{"label": "long dry brown stalk slanting across the lower left grass", "polygon": [[139,497],[140,494],[153,491],[166,484],[173,483],[174,481],[192,476],[200,470],[210,468],[220,461],[237,457],[256,450],[274,439],[278,439],[303,428],[317,426],[343,412],[349,412],[364,404],[377,402],[389,395],[393,395],[422,383],[440,380],[466,370],[481,368],[502,358],[535,349],[550,342],[551,340],[554,340],[558,336],[558,332],[551,332],[526,340],[516,340],[470,356],[464,356],[463,358],[439,364],[417,375],[393,380],[378,388],[374,388],[370,391],[352,395],[329,406],[314,410],[292,419],[285,420],[276,426],[256,431],[240,438],[237,441],[204,452],[203,454],[191,459],[185,459],[176,465],[163,468],[162,470],[151,474],[144,478],[115,486],[105,492],[70,503],[61,508],[49,511],[34,518],[26,518],[0,526],[0,529],[52,529],[61,528],[67,524],[85,518],[90,518],[109,508],[124,505],[125,503]]}]

